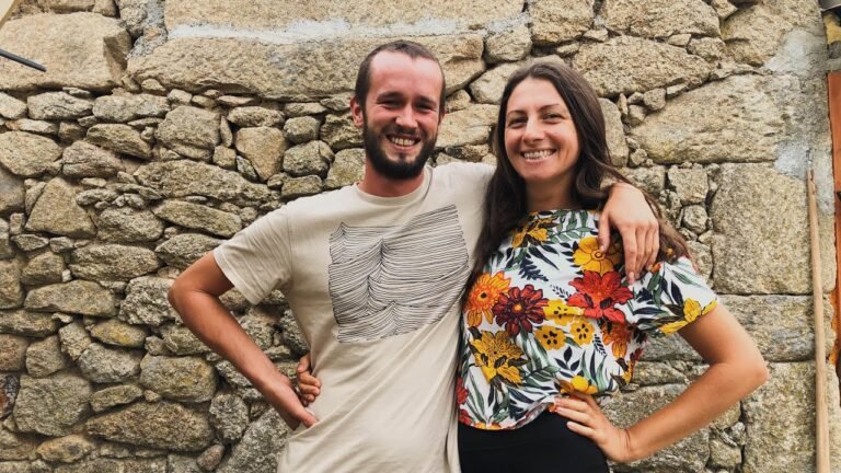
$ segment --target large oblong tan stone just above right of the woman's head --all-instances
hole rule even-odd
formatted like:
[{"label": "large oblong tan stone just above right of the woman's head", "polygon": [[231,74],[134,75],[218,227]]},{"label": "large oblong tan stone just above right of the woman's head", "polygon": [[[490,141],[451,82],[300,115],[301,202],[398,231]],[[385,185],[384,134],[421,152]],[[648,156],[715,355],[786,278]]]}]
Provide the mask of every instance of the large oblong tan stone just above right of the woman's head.
[{"label": "large oblong tan stone just above right of the woman's head", "polygon": [[606,97],[676,83],[699,85],[711,70],[704,59],[683,48],[632,36],[585,43],[573,67]]}]

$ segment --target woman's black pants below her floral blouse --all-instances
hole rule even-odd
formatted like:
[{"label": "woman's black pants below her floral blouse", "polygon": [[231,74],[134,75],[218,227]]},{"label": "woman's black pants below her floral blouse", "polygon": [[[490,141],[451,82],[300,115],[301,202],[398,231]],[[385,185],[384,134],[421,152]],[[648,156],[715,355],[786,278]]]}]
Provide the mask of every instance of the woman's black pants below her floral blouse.
[{"label": "woman's black pants below her floral blouse", "polygon": [[544,412],[512,430],[482,430],[459,424],[462,473],[607,473],[601,450],[566,427],[567,419]]}]

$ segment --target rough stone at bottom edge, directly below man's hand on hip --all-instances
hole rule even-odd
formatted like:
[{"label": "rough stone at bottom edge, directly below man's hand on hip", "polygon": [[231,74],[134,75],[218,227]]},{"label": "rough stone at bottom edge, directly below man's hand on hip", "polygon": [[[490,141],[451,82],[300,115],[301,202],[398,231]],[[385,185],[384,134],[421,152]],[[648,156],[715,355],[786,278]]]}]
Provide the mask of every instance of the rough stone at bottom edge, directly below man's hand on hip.
[{"label": "rough stone at bottom edge, directly below man's hand on hip", "polygon": [[289,428],[277,411],[269,408],[249,426],[231,455],[216,470],[218,473],[275,473],[277,455],[286,443]]}]

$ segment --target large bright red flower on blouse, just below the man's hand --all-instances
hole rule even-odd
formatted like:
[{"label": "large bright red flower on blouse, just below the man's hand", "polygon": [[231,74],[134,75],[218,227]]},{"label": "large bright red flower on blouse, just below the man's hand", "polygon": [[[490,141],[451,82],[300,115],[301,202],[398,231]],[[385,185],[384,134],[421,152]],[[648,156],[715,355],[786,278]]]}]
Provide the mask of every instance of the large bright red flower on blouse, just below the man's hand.
[{"label": "large bright red flower on blouse, just below the man's hand", "polygon": [[573,279],[569,286],[578,292],[569,298],[567,305],[584,308],[584,314],[591,319],[604,316],[611,322],[624,322],[624,314],[613,305],[627,302],[634,295],[621,285],[618,272],[600,275],[585,270],[584,277]]}]

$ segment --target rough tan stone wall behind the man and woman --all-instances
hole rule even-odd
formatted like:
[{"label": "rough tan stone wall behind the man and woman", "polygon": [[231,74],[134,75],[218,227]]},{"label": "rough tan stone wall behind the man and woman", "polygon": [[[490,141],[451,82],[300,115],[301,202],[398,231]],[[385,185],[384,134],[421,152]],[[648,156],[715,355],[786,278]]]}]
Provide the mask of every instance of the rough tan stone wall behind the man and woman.
[{"label": "rough tan stone wall behind the man and woman", "polygon": [[[493,162],[519,65],[581,71],[615,163],[659,197],[769,361],[768,384],[713,425],[614,471],[814,471],[804,175],[811,159],[828,293],[838,64],[815,1],[26,0],[0,47],[48,72],[0,61],[0,472],[275,471],[281,422],[166,290],[258,216],[360,178],[349,91],[393,37],[443,65],[438,165]],[[307,348],[283,295],[224,303],[293,370]],[[703,367],[680,337],[657,341],[610,415],[633,422]],[[834,373],[829,385],[841,471]]]}]

